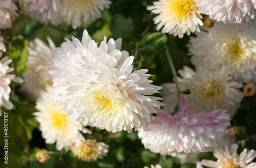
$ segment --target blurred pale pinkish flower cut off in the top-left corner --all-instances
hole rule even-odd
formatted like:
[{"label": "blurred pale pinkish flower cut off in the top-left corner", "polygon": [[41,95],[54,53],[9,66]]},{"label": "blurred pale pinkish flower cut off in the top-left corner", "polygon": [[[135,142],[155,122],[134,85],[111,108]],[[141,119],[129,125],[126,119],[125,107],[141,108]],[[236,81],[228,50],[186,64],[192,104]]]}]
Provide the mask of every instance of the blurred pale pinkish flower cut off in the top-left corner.
[{"label": "blurred pale pinkish flower cut off in the top-left corner", "polygon": [[7,29],[12,26],[12,19],[18,16],[17,9],[11,0],[0,1],[0,29]]}]

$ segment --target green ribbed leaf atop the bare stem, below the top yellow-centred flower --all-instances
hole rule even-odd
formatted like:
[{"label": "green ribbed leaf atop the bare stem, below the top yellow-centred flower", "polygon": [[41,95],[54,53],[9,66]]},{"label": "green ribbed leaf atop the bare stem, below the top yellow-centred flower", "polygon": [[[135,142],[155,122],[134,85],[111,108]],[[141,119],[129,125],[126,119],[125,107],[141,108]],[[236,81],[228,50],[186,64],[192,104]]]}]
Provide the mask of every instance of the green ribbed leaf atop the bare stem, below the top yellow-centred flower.
[{"label": "green ribbed leaf atop the bare stem, below the top yellow-centred flower", "polygon": [[164,45],[167,43],[167,37],[160,32],[146,34],[139,43],[139,52],[141,54],[158,54],[164,52]]}]

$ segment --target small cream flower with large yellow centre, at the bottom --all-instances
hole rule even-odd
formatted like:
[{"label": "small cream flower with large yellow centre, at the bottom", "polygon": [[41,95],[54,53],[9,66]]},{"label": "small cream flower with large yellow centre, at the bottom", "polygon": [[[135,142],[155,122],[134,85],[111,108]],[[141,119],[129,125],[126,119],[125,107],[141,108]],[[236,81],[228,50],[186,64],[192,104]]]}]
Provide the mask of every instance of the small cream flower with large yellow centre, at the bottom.
[{"label": "small cream flower with large yellow centre, at the bottom", "polygon": [[74,156],[82,161],[96,161],[102,159],[109,152],[109,146],[104,143],[98,143],[95,139],[87,139],[71,148]]}]

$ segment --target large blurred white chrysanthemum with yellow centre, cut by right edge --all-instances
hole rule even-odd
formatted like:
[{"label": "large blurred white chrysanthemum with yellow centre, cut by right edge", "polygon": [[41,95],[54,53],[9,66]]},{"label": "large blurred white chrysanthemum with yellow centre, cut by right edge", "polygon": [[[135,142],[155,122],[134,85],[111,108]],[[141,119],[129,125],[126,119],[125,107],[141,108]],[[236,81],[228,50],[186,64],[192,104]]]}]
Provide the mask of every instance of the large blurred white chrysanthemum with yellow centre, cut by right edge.
[{"label": "large blurred white chrysanthemum with yellow centre, cut by right edge", "polygon": [[196,33],[188,45],[191,62],[214,71],[224,68],[238,82],[256,82],[255,26],[218,22],[208,33]]}]

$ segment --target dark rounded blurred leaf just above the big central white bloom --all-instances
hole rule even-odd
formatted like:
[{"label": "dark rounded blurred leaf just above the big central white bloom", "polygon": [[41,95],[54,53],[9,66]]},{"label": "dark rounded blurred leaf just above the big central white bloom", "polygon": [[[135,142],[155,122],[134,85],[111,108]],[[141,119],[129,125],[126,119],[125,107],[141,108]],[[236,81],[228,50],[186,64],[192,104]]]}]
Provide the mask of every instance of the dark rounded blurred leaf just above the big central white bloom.
[{"label": "dark rounded blurred leaf just above the big central white bloom", "polygon": [[114,24],[110,27],[113,38],[122,38],[123,41],[134,38],[134,21],[131,17],[125,18],[120,14],[114,16]]}]

